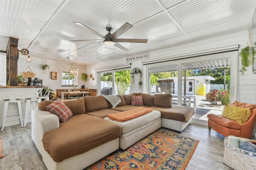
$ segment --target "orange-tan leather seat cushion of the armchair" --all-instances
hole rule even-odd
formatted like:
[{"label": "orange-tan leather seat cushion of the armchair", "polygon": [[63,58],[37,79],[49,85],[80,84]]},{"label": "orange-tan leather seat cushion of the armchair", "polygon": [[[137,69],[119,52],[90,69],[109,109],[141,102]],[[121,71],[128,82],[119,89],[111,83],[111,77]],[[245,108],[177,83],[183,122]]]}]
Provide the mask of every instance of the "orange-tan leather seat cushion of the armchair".
[{"label": "orange-tan leather seat cushion of the armchair", "polygon": [[226,117],[222,117],[220,115],[215,114],[208,114],[207,117],[213,121],[214,123],[221,125],[223,127],[227,128],[234,128],[234,129],[240,129],[241,126],[236,121],[233,121],[231,119],[228,119]]}]

